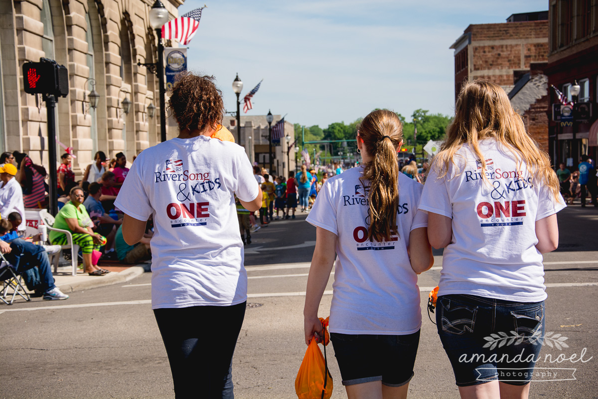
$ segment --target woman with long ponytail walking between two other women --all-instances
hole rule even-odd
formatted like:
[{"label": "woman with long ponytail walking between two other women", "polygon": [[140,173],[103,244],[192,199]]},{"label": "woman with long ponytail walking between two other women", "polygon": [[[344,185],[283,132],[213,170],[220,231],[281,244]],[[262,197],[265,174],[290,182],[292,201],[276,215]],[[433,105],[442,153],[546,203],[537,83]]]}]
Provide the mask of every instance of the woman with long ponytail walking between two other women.
[{"label": "woman with long ponytail walking between two other women", "polygon": [[[330,333],[350,398],[405,398],[419,345],[417,274],[434,263],[422,185],[399,173],[402,124],[371,112],[357,132],[362,166],[328,179],[307,221],[316,248],[307,279],[305,340],[319,339],[318,307],[336,255]],[[411,255],[411,257],[410,257]]]}]

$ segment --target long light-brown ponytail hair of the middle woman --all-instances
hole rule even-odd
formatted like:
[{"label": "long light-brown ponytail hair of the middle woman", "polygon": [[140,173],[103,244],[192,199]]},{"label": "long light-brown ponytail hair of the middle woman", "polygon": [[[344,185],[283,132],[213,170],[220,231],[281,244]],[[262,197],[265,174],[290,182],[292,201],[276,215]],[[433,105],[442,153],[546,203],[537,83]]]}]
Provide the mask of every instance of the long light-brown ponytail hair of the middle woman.
[{"label": "long light-brown ponytail hair of the middle woman", "polygon": [[[359,178],[370,182],[368,239],[371,242],[389,240],[392,234],[398,234],[399,165],[396,148],[403,139],[403,126],[394,112],[378,109],[361,121],[357,132],[367,153],[373,157],[364,164],[363,175]],[[365,188],[365,182],[363,184]]]}]

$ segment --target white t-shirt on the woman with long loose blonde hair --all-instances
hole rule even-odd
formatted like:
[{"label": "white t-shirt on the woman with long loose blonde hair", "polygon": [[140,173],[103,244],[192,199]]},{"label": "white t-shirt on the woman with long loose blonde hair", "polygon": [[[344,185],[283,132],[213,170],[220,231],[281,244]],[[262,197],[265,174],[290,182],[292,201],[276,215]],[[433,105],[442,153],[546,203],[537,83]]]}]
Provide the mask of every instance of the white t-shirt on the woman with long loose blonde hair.
[{"label": "white t-shirt on the woman with long loose blonde hair", "polygon": [[[438,296],[470,294],[509,301],[546,299],[535,223],[565,208],[563,197],[533,184],[525,165],[494,140],[480,142],[486,171],[468,145],[457,166],[438,179],[428,173],[420,209],[451,218],[453,238],[444,248]],[[458,176],[455,176],[463,170]],[[486,173],[490,185],[484,183]]]}]

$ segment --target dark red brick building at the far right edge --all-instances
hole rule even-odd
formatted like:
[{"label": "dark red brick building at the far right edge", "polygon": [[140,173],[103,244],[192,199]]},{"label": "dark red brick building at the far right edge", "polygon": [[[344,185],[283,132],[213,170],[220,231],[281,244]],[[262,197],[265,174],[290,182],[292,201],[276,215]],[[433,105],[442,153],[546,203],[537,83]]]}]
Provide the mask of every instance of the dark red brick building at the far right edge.
[{"label": "dark red brick building at the far right edge", "polygon": [[[598,1],[550,0],[549,4],[550,53],[544,73],[548,84],[575,102],[572,121],[556,120],[553,104],[558,108],[559,100],[550,91],[550,154],[555,163],[569,163],[576,169],[581,154],[598,160]],[[576,98],[570,92],[575,81],[580,88]],[[581,108],[591,112],[579,112]]]}]

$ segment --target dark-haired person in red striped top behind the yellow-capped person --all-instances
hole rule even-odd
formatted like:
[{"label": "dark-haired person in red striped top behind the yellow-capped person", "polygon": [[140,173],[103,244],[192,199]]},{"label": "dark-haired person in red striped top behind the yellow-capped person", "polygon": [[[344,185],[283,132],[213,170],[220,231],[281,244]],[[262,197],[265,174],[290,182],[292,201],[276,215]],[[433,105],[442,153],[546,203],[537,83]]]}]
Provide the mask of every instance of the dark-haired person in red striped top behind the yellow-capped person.
[{"label": "dark-haired person in red striped top behind the yellow-capped person", "polygon": [[18,171],[14,176],[23,189],[23,203],[25,208],[41,208],[45,204],[45,168],[35,165],[27,154],[14,151]]}]

